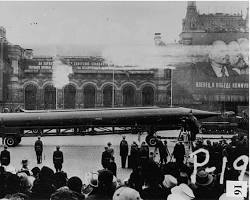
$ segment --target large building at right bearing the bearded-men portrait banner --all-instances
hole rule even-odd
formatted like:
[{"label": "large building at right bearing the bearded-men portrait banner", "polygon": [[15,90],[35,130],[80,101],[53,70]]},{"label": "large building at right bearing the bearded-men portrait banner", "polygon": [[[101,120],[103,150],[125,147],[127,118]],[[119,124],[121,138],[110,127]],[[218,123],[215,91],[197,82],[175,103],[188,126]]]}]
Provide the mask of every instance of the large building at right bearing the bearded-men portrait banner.
[{"label": "large building at right bearing the bearded-men portrait banner", "polygon": [[[249,15],[200,14],[187,2],[180,43],[207,49],[202,61],[176,66],[174,103],[214,111],[240,113],[249,108]],[[222,75],[222,70],[227,73]]]}]

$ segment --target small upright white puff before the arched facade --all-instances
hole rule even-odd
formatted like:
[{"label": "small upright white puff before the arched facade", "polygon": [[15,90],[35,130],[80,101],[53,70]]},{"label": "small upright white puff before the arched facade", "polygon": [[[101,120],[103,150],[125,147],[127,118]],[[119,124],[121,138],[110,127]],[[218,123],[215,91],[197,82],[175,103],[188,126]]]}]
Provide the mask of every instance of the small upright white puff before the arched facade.
[{"label": "small upright white puff before the arched facade", "polygon": [[69,74],[73,73],[72,66],[64,64],[62,60],[56,56],[52,66],[52,81],[57,89],[69,83]]}]

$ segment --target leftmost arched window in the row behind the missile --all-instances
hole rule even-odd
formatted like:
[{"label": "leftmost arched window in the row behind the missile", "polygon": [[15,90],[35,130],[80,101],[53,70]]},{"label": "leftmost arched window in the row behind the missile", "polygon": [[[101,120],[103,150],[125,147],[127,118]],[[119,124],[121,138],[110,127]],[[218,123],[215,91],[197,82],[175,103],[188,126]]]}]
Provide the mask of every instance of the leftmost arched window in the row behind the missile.
[{"label": "leftmost arched window in the row behind the missile", "polygon": [[24,90],[24,107],[26,110],[36,110],[37,109],[37,87],[30,84],[25,87]]}]

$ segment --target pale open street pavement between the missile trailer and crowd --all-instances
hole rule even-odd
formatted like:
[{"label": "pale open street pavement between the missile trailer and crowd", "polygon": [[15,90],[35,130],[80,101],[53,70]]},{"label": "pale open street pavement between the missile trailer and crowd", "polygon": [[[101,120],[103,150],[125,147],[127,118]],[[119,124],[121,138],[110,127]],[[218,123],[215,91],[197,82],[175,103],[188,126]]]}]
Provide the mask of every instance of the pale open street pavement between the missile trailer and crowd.
[{"label": "pale open street pavement between the missile trailer and crowd", "polygon": [[[161,136],[178,137],[179,131],[163,131],[159,133]],[[146,134],[143,134],[140,141],[144,141]],[[96,172],[102,169],[101,154],[104,151],[104,146],[108,142],[112,143],[115,150],[115,162],[117,164],[118,178],[128,178],[131,173],[130,169],[121,168],[121,159],[119,155],[119,144],[122,139],[122,135],[96,135],[96,136],[46,136],[41,140],[44,144],[43,162],[37,165],[36,154],[34,150],[34,143],[37,137],[23,137],[22,142],[12,148],[8,148],[11,154],[11,166],[14,166],[17,170],[21,168],[21,161],[28,159],[29,168],[32,169],[35,166],[40,168],[44,165],[54,169],[52,156],[53,151],[56,149],[56,145],[61,146],[61,150],[64,153],[63,170],[68,173],[68,177],[79,176],[83,179],[86,173]],[[138,144],[138,135],[127,134],[126,140],[131,145],[133,141]],[[176,143],[176,139],[168,139],[168,149],[172,153],[173,147]],[[154,148],[151,148],[154,151]]]}]

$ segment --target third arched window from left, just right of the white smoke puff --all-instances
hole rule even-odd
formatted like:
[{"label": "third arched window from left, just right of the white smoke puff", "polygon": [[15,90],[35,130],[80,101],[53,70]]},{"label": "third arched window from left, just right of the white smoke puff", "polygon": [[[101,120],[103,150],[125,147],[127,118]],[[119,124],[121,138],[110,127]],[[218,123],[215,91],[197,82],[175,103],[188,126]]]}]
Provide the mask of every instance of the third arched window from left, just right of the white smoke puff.
[{"label": "third arched window from left, just right of the white smoke puff", "polygon": [[63,105],[65,109],[74,109],[76,102],[76,89],[72,85],[66,85],[63,92]]}]

